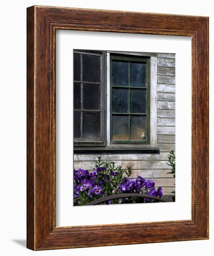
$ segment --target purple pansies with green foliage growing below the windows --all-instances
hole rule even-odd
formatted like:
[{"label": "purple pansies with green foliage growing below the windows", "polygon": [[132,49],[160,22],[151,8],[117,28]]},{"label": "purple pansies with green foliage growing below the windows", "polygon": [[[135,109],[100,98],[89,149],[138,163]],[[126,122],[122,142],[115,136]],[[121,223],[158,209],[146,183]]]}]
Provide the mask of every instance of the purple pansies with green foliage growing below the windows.
[{"label": "purple pansies with green foliage growing below the windows", "polygon": [[[95,161],[93,171],[74,169],[74,205],[85,205],[95,199],[123,193],[141,193],[162,197],[162,188],[155,189],[155,182],[141,176],[131,179],[132,168],[123,169],[114,162],[101,162],[101,157]],[[156,202],[149,198],[121,198],[102,204]]]}]

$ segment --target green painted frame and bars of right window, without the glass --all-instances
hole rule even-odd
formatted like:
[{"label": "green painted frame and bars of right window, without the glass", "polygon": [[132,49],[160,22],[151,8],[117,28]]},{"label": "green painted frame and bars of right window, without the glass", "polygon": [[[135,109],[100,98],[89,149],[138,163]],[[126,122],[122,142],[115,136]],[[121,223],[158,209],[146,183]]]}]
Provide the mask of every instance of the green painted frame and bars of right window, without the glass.
[{"label": "green painted frame and bars of right window, without the glass", "polygon": [[[128,68],[128,86],[113,86],[112,85],[112,60],[129,61]],[[146,63],[146,86],[131,87],[130,86],[130,61]],[[128,113],[112,113],[112,88],[129,88]],[[146,113],[130,113],[130,88],[146,90]],[[146,139],[145,140],[112,140],[112,115],[129,115],[129,137],[130,137],[130,116],[144,115],[146,116]],[[136,145],[150,144],[150,58],[149,57],[133,57],[119,54],[110,54],[110,144],[111,145]]]}]

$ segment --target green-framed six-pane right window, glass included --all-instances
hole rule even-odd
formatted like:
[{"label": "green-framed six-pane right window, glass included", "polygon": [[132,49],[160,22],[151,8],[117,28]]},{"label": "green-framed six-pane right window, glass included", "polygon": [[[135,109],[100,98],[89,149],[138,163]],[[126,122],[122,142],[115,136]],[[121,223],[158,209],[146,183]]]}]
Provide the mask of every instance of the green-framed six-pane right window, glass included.
[{"label": "green-framed six-pane right window, glass included", "polygon": [[149,58],[110,55],[111,144],[150,143]]}]

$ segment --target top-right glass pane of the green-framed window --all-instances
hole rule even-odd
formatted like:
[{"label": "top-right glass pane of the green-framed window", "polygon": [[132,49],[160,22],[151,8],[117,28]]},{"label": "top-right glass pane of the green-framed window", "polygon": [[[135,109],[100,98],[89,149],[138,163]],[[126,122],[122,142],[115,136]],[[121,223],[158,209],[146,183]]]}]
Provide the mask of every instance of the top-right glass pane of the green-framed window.
[{"label": "top-right glass pane of the green-framed window", "polygon": [[146,87],[146,64],[130,62],[130,86]]}]

